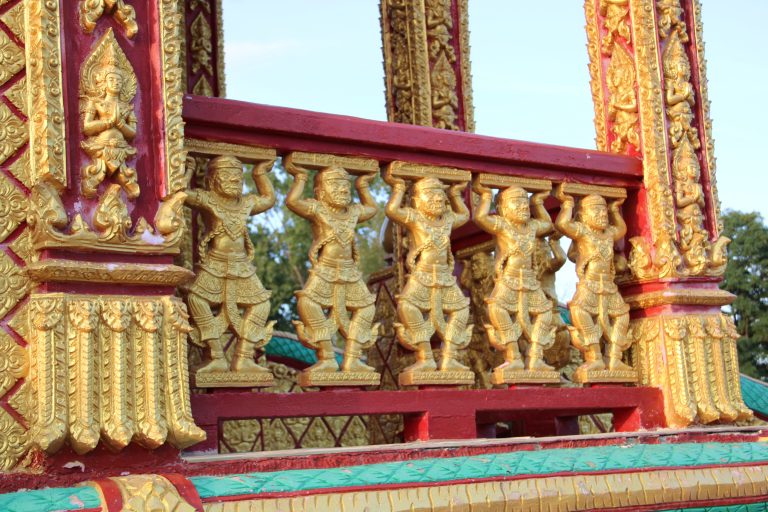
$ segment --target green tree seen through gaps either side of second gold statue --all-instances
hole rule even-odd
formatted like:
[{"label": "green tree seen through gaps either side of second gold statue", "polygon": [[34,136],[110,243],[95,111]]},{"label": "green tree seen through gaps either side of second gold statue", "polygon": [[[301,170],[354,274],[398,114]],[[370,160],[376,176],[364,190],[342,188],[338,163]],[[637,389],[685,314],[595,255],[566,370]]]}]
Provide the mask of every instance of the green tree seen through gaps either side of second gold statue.
[{"label": "green tree seen through gaps either side of second gold statue", "polygon": [[[250,176],[250,173],[246,173]],[[309,272],[309,246],[312,243],[312,228],[306,220],[288,210],[285,197],[293,183],[280,161],[271,173],[277,201],[275,206],[253,219],[250,232],[255,248],[254,264],[259,277],[268,290],[272,290],[270,319],[277,320],[275,328],[293,331],[291,320],[297,319],[294,292],[304,286]],[[310,185],[305,195],[312,193]],[[250,178],[246,187],[253,190]],[[379,212],[370,221],[357,229],[357,249],[364,278],[384,266],[384,251],[378,241],[378,232],[384,220],[385,185],[380,178],[371,183],[371,192],[379,204]],[[355,200],[358,200],[355,198]]]}]

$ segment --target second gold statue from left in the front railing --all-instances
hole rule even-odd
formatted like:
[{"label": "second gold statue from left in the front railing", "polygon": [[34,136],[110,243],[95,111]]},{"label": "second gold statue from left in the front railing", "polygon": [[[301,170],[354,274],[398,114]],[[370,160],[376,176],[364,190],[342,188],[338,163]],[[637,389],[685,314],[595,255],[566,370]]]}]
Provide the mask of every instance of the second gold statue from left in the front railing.
[{"label": "second gold statue from left in the front railing", "polygon": [[[321,168],[315,175],[315,198],[303,199],[309,174],[293,157],[289,155],[285,160],[286,170],[294,176],[286,205],[312,223],[313,234],[309,279],[296,293],[301,320],[294,325],[301,343],[314,350],[318,359],[302,372],[300,383],[377,385],[380,375],[360,361],[363,350],[376,341],[379,324],[372,325],[376,298],[363,282],[355,247],[356,226],[376,215],[376,202],[368,190],[375,174],[361,174],[355,179],[360,197],[356,204],[347,171],[337,165]],[[333,352],[332,339],[337,332],[346,340],[341,368]]]}]

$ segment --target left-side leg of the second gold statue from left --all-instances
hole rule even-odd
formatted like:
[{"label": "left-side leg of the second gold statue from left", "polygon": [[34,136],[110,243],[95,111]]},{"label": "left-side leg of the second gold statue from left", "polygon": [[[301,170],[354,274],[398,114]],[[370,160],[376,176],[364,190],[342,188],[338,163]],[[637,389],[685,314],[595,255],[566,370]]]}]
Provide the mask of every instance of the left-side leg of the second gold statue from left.
[{"label": "left-side leg of the second gold statue from left", "polygon": [[299,339],[317,354],[317,363],[307,372],[336,372],[339,363],[333,352],[331,338],[336,333],[336,324],[326,318],[323,308],[306,295],[300,295],[296,303],[301,322],[294,322]]}]

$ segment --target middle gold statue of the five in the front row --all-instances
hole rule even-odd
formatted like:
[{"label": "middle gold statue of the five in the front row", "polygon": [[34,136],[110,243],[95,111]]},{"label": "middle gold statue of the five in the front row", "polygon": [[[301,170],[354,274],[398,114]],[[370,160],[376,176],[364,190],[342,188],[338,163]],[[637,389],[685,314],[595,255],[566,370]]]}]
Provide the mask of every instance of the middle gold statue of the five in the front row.
[{"label": "middle gold statue of the five in the front row", "polygon": [[[390,166],[385,176],[393,187],[386,213],[408,232],[408,276],[397,296],[400,323],[395,328],[400,343],[416,352],[416,363],[403,370],[400,384],[472,384],[474,374],[457,360],[459,351],[469,344],[472,325],[467,325],[469,299],[453,275],[450,240],[451,231],[469,220],[469,210],[461,197],[469,173],[466,181],[450,187],[435,177],[414,176],[418,178],[412,187],[414,207],[409,208],[402,206],[405,181],[393,170]],[[430,344],[435,333],[443,340],[439,366]]]}]

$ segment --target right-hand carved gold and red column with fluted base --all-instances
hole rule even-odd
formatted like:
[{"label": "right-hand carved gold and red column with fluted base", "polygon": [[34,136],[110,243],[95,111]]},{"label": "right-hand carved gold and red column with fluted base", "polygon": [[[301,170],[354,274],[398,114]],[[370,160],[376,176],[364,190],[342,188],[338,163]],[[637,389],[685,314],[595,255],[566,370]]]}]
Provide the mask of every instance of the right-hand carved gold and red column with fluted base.
[{"label": "right-hand carved gold and red column with fluted base", "polygon": [[[751,417],[736,338],[720,312],[727,238],[707,99],[699,0],[586,0],[598,149],[639,156],[628,200],[629,266],[640,382],[664,390],[669,426]],[[631,216],[630,216],[631,217]],[[629,248],[628,248],[629,249]]]}]

